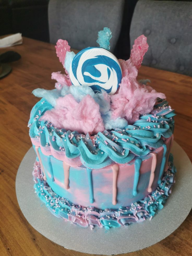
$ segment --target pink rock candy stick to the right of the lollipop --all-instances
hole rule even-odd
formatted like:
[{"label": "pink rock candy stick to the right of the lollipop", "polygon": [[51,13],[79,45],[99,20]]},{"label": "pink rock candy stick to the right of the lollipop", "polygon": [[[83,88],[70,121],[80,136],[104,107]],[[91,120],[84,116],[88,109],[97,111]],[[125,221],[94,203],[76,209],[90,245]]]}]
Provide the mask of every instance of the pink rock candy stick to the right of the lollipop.
[{"label": "pink rock candy stick to the right of the lollipop", "polygon": [[147,52],[148,47],[147,38],[144,35],[140,35],[140,37],[135,39],[130,58],[137,69],[141,67],[143,56]]}]

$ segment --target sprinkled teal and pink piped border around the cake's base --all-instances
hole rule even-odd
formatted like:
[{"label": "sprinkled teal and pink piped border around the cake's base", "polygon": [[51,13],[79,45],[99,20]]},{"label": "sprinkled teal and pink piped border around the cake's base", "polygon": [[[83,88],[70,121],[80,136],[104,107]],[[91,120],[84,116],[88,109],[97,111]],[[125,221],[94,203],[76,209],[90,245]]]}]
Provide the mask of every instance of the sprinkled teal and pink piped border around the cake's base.
[{"label": "sprinkled teal and pink piped border around the cake's base", "polygon": [[[157,187],[152,194],[145,197],[143,200],[132,203],[126,207],[119,207],[117,209],[99,210],[95,207],[83,207],[75,205],[70,200],[65,199],[55,193],[51,187],[43,180],[43,172],[39,162],[34,164],[34,181],[35,192],[38,197],[46,204],[47,208],[56,217],[61,217],[73,224],[81,227],[94,226],[105,227],[121,227],[128,226],[134,222],[142,222],[147,218],[155,215],[157,210],[164,207],[167,197],[171,193],[172,184],[175,182],[175,166],[173,165],[173,157],[170,154],[168,169],[164,172],[163,178],[159,187]],[[38,173],[41,177],[38,177]]]}]

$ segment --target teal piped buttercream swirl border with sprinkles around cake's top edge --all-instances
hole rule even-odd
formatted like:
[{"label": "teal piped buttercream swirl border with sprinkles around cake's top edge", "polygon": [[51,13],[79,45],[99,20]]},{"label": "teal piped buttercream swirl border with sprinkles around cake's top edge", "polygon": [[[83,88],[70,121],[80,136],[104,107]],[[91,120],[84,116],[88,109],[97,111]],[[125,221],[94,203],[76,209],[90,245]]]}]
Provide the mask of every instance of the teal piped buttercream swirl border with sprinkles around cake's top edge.
[{"label": "teal piped buttercream swirl border with sprinkles around cake's top edge", "polygon": [[154,110],[141,115],[132,125],[124,129],[105,130],[95,136],[79,134],[54,127],[49,121],[39,121],[52,105],[44,98],[32,109],[28,126],[31,138],[39,138],[43,147],[51,146],[64,151],[69,159],[80,157],[83,165],[100,169],[112,163],[126,164],[134,157],[148,157],[154,148],[163,145],[162,138],[169,138],[174,129],[175,111],[168,102],[154,106]]}]

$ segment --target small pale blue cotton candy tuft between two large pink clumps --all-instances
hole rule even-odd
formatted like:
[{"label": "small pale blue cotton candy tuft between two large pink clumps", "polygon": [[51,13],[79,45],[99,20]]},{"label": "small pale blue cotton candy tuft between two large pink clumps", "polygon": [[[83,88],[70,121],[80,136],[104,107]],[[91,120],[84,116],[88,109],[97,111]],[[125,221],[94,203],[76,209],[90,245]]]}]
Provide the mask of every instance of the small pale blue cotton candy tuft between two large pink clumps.
[{"label": "small pale blue cotton candy tuft between two large pink clumps", "polygon": [[115,120],[111,118],[112,111],[107,111],[105,115],[101,115],[106,130],[115,128],[124,129],[128,122],[124,118],[117,117]]}]

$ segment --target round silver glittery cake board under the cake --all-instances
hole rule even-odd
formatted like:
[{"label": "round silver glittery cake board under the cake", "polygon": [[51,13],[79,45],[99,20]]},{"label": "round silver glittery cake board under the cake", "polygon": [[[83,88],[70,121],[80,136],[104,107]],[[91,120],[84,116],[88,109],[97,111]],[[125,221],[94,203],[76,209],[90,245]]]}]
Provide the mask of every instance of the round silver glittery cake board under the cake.
[{"label": "round silver glittery cake board under the cake", "polygon": [[192,165],[184,150],[174,141],[171,150],[177,168],[176,183],[162,210],[151,219],[126,227],[82,228],[57,218],[35,194],[32,176],[35,152],[31,147],[16,177],[16,194],[27,221],[51,241],[79,252],[114,255],[154,245],[175,231],[189,214],[192,201]]}]

